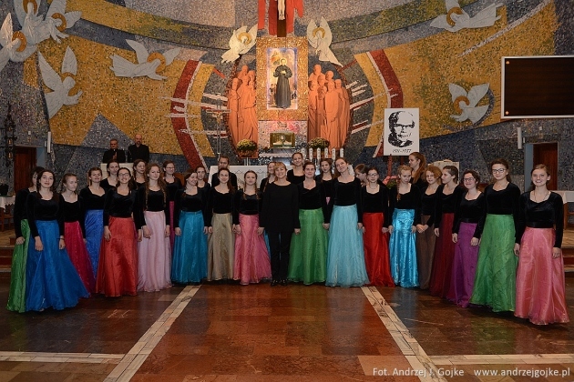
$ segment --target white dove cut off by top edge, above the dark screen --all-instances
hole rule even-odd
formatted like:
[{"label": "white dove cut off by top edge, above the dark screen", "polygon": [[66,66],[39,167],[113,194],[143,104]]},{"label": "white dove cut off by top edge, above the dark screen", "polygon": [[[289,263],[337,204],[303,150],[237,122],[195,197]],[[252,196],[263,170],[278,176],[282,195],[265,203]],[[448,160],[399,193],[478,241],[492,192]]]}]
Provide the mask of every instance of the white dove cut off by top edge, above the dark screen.
[{"label": "white dove cut off by top edge, above the dark screen", "polygon": [[449,32],[458,32],[464,28],[483,28],[492,26],[500,18],[497,16],[497,7],[502,4],[491,4],[478,12],[474,17],[470,17],[458,5],[457,0],[445,0],[446,15],[437,16],[431,26],[446,29]]}]

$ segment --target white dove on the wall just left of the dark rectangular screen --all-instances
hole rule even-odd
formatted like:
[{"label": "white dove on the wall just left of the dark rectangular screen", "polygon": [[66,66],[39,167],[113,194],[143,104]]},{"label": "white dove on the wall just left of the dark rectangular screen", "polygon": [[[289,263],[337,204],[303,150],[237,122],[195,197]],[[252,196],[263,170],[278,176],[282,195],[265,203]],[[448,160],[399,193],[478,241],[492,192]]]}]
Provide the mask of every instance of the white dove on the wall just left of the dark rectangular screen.
[{"label": "white dove on the wall just left of the dark rectangular screen", "polygon": [[451,115],[450,117],[456,119],[458,122],[464,122],[466,119],[472,121],[473,124],[477,123],[488,110],[488,106],[477,106],[478,101],[487,95],[489,84],[482,84],[472,86],[468,93],[459,85],[448,84],[448,90],[452,95],[455,110],[460,113],[459,116]]}]

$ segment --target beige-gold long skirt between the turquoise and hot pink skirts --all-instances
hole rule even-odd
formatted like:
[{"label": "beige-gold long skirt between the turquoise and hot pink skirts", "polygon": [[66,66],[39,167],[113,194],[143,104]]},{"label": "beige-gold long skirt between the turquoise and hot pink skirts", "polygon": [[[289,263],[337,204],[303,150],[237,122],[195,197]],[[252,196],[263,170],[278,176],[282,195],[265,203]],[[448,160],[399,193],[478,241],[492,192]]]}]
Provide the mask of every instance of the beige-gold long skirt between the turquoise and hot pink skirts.
[{"label": "beige-gold long skirt between the turquoise and hot pink skirts", "polygon": [[208,281],[233,278],[235,235],[231,214],[213,214],[208,235]]}]

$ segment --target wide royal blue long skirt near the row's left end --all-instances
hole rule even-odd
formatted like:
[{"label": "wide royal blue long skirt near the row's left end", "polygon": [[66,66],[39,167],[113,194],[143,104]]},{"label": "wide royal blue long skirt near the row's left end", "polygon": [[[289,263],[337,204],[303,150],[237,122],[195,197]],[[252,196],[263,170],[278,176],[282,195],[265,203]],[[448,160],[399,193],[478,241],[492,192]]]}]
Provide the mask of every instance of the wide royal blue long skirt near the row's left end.
[{"label": "wide royal blue long skirt near the row's left end", "polygon": [[36,220],[44,249],[36,251],[34,241],[28,246],[26,262],[26,310],[47,307],[75,307],[80,297],[88,297],[84,283],[67,256],[59,249],[59,228],[56,220]]}]

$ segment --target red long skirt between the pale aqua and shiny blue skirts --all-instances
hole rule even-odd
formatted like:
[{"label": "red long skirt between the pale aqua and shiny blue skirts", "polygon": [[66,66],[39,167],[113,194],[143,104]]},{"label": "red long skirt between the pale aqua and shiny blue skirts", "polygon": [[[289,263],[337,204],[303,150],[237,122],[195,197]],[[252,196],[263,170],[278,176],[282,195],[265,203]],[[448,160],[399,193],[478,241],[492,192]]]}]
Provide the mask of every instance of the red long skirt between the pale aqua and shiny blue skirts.
[{"label": "red long skirt between the pale aqua and shiny blue skirts", "polygon": [[364,213],[364,265],[372,286],[395,286],[389,261],[389,235],[381,231],[382,212]]}]

